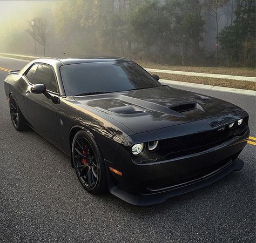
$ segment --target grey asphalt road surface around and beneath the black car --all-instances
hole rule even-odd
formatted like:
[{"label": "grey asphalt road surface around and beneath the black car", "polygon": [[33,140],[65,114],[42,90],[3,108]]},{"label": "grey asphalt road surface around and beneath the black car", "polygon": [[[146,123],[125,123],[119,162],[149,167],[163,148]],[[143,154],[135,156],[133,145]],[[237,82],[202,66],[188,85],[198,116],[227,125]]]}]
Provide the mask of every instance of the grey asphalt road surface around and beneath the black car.
[{"label": "grey asphalt road surface around and beneath the black car", "polygon": [[[6,69],[25,64],[0,58]],[[80,186],[69,157],[36,132],[14,130],[6,75],[0,70],[0,242],[254,242],[256,146],[241,153],[240,172],[164,204],[96,197]],[[256,136],[255,97],[196,91],[241,106]]]}]

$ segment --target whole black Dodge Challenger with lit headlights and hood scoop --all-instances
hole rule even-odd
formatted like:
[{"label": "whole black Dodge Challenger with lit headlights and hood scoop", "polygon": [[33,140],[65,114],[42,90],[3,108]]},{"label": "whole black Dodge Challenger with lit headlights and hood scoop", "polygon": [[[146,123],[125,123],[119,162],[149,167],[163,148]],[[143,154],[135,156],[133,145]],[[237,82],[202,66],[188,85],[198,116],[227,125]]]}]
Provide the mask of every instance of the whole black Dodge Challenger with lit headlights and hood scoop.
[{"label": "whole black Dodge Challenger with lit headlights and hood scoop", "polygon": [[11,121],[71,157],[86,191],[151,205],[238,171],[248,114],[125,58],[36,59],[4,80]]}]

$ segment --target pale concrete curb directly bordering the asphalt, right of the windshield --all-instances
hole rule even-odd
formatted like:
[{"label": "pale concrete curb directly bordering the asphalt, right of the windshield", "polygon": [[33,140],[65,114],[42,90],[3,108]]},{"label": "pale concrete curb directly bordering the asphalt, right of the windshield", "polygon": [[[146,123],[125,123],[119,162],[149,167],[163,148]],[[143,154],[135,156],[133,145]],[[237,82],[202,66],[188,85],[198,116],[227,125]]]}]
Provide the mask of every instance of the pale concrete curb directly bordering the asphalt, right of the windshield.
[{"label": "pale concrete curb directly bordering the asphalt, right of the windshield", "polygon": [[212,90],[212,91],[220,91],[220,92],[228,92],[228,93],[238,93],[240,95],[248,95],[248,96],[256,95],[256,91],[254,91],[254,90],[242,90],[242,89],[235,89],[235,88],[230,88],[230,87],[212,86],[212,85],[206,85],[206,84],[195,84],[195,83],[180,82],[180,81],[167,80],[167,79],[160,79],[159,81],[161,84],[186,86],[186,87],[192,87],[194,89],[204,89],[204,90]]}]

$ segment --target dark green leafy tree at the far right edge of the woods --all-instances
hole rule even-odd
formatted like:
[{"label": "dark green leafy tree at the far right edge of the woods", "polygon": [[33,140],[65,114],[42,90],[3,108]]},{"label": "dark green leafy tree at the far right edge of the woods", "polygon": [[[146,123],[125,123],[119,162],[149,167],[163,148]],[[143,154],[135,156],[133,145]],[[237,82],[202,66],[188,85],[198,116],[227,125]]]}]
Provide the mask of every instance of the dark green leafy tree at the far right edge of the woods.
[{"label": "dark green leafy tree at the far right edge of the woods", "polygon": [[221,50],[230,62],[255,67],[255,1],[238,1],[235,16],[220,33]]}]

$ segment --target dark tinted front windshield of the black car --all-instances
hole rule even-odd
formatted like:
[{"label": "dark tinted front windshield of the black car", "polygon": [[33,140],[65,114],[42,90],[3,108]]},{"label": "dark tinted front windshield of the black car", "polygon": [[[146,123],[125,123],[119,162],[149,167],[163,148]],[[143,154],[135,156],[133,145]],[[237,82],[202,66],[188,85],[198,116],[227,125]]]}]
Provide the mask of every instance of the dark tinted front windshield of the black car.
[{"label": "dark tinted front windshield of the black car", "polygon": [[60,67],[67,96],[147,89],[161,84],[133,62],[95,62]]}]

